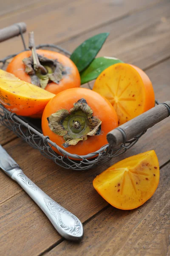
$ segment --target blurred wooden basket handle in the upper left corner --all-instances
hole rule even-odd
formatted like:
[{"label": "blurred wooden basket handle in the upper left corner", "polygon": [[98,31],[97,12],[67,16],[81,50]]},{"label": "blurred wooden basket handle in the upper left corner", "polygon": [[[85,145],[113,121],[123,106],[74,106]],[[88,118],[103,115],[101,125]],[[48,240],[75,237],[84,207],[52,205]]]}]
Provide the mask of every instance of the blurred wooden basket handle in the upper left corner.
[{"label": "blurred wooden basket handle in the upper left corner", "polygon": [[26,23],[15,23],[11,26],[0,29],[0,42],[6,41],[14,36],[20,35],[20,32],[26,32]]}]

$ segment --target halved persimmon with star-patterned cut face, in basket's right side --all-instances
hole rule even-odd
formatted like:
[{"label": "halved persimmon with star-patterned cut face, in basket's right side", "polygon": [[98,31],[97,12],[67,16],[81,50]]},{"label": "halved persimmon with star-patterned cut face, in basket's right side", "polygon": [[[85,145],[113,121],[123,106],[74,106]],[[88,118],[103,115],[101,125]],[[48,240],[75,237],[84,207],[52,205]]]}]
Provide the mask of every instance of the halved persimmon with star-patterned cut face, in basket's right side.
[{"label": "halved persimmon with star-patterned cut face, in basket's right side", "polygon": [[93,90],[111,102],[119,125],[155,105],[153,86],[147,74],[139,67],[126,63],[105,69],[96,79]]}]

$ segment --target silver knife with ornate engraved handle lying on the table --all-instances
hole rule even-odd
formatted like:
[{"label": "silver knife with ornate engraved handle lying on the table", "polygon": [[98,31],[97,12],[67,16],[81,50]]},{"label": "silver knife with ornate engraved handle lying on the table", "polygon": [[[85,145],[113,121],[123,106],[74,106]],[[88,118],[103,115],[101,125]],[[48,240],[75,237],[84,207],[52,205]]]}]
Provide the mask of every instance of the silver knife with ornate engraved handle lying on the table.
[{"label": "silver knife with ornate engraved handle lying on the table", "polygon": [[33,183],[1,145],[0,168],[26,191],[42,209],[61,236],[72,241],[80,241],[83,238],[81,221],[74,214],[57,204]]}]

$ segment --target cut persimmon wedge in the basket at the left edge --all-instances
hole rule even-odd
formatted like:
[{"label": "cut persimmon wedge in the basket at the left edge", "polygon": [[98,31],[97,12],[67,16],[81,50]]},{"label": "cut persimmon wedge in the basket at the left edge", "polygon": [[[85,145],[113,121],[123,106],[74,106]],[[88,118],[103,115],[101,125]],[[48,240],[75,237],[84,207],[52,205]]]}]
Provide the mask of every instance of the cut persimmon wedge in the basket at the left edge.
[{"label": "cut persimmon wedge in the basket at the left edge", "polygon": [[31,116],[43,111],[55,95],[0,70],[0,103],[20,116]]}]

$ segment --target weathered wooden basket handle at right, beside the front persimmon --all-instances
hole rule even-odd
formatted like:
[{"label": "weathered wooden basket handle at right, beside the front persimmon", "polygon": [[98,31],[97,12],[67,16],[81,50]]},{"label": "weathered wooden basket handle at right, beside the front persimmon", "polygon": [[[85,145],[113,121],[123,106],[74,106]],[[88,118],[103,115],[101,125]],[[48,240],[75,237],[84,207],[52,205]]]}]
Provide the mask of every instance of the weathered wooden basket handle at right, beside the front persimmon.
[{"label": "weathered wooden basket handle at right, beside the front persimmon", "polygon": [[118,146],[141,134],[169,115],[170,101],[166,101],[110,131],[107,134],[108,143],[113,147]]}]

